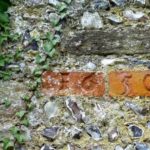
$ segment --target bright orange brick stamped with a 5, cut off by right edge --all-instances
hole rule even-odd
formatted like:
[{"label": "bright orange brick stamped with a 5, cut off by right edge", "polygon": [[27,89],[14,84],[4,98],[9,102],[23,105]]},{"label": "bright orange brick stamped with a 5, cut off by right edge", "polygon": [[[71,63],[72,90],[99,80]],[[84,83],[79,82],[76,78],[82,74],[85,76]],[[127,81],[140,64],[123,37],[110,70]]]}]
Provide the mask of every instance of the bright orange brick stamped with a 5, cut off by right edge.
[{"label": "bright orange brick stamped with a 5, cut off by right edge", "polygon": [[150,96],[150,71],[109,73],[110,96]]}]

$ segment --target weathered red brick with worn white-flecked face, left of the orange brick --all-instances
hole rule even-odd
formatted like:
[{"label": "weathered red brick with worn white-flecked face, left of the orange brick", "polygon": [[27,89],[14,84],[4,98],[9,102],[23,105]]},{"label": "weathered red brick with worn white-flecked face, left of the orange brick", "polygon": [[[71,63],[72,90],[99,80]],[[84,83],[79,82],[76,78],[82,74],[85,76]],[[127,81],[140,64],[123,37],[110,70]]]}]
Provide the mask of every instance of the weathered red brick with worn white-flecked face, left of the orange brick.
[{"label": "weathered red brick with worn white-flecked face, left of the orange brick", "polygon": [[102,73],[50,72],[42,75],[42,91],[53,95],[103,96],[105,91]]}]

